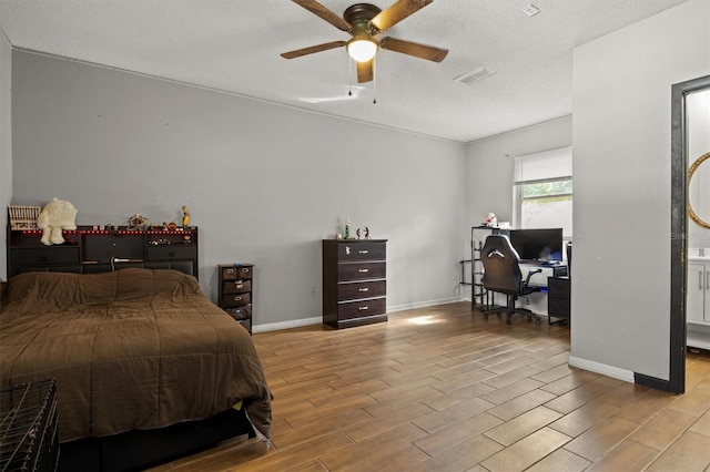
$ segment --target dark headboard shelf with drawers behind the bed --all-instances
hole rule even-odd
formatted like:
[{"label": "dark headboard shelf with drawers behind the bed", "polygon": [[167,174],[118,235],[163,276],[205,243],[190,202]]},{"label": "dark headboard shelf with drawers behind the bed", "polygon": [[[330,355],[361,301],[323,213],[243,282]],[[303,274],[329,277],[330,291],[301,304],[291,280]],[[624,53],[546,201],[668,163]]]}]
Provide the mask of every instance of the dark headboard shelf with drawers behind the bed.
[{"label": "dark headboard shelf with drawers behind the bed", "polygon": [[78,226],[62,230],[64,244],[45,246],[40,229],[8,225],[8,274],[69,271],[94,274],[124,267],[175,269],[197,277],[196,226],[135,229],[128,226]]}]

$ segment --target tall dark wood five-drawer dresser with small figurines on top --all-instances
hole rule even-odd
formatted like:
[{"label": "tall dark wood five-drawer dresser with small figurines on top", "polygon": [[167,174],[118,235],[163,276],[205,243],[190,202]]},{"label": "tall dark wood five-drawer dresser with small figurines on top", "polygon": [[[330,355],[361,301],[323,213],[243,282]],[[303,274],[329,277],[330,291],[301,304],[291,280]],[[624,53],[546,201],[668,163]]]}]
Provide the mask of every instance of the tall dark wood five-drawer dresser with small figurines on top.
[{"label": "tall dark wood five-drawer dresser with small figurines on top", "polygon": [[387,321],[387,239],[323,239],[323,322]]}]

